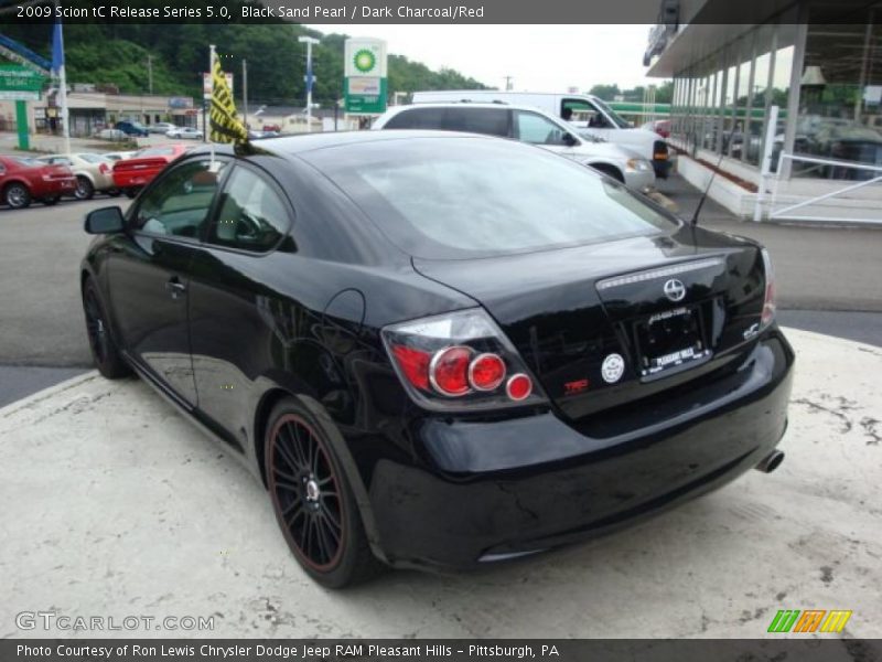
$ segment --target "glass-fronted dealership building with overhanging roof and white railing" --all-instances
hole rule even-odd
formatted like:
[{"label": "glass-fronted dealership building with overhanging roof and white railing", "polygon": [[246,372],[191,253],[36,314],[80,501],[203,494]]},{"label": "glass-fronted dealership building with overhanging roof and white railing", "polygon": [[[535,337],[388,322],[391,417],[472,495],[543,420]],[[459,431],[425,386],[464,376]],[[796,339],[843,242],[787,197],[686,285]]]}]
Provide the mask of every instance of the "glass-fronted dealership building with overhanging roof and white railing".
[{"label": "glass-fronted dealership building with overhanging roof and white railing", "polygon": [[[882,8],[868,4],[665,0],[644,64],[674,79],[680,173],[704,186],[717,171],[711,197],[742,217],[882,223]],[[725,22],[739,15],[755,22]]]}]

